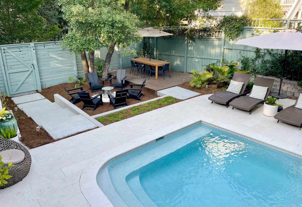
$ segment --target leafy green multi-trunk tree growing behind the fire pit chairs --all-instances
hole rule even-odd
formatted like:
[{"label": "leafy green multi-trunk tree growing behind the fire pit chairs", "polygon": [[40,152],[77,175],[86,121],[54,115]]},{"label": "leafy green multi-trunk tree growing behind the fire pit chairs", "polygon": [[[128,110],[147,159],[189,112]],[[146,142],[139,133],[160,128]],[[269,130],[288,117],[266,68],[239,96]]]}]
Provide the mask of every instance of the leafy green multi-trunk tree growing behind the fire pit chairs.
[{"label": "leafy green multi-trunk tree growing behind the fire pit chairs", "polygon": [[[107,79],[115,45],[127,49],[141,40],[137,33],[137,17],[124,10],[119,1],[60,0],[59,4],[68,22],[68,33],[63,36],[61,46],[69,48],[71,53],[81,54],[86,78],[88,72],[94,72],[95,49],[108,49],[103,68],[103,78]],[[85,51],[88,51],[89,63]],[[134,50],[129,52],[135,53]]]}]

